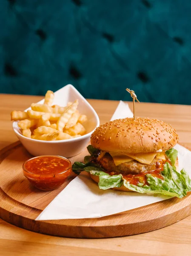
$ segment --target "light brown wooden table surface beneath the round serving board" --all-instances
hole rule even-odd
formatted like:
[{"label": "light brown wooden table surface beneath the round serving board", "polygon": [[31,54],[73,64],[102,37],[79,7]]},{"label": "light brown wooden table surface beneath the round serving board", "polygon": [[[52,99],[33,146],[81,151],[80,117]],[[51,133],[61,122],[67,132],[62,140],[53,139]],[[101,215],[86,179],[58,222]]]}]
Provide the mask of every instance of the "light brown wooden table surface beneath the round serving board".
[{"label": "light brown wooden table surface beneath the round serving board", "polygon": [[[0,95],[0,149],[17,141],[12,131],[10,112],[24,110],[39,96]],[[88,100],[108,121],[119,102]],[[132,109],[132,104],[129,103]],[[191,148],[191,106],[140,103],[137,116],[161,119],[177,129],[180,143]],[[191,255],[191,216],[169,227],[149,233],[112,239],[70,239],[33,233],[0,219],[0,256],[146,256]]]}]

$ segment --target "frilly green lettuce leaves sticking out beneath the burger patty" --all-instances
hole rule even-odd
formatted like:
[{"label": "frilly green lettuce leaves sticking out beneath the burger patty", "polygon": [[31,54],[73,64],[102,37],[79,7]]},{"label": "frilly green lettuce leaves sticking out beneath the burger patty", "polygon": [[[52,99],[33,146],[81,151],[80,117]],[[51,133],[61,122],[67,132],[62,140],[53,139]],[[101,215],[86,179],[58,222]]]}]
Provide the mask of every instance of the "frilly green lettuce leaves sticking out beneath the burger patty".
[{"label": "frilly green lettuce leaves sticking out beneath the burger patty", "polygon": [[[97,153],[97,149],[92,146],[88,148],[88,151],[91,156]],[[177,172],[176,167],[174,166],[178,155],[178,151],[176,149],[171,148],[166,151],[165,154],[171,161],[172,166],[168,162],[164,164],[163,171],[161,172],[163,180],[154,177],[151,174],[147,174],[146,178],[149,186],[144,186],[143,183],[138,183],[137,186],[132,185],[127,180],[123,179],[121,174],[109,175],[105,173],[100,166],[88,162],[90,160],[90,156],[85,157],[85,164],[75,162],[72,168],[73,171],[76,173],[78,172],[78,174],[81,171],[86,171],[90,172],[91,175],[99,176],[100,181],[98,186],[100,189],[111,189],[124,185],[126,188],[139,193],[162,194],[182,198],[183,196],[186,196],[187,192],[191,191],[191,179],[184,169],[182,169],[181,172]]]}]

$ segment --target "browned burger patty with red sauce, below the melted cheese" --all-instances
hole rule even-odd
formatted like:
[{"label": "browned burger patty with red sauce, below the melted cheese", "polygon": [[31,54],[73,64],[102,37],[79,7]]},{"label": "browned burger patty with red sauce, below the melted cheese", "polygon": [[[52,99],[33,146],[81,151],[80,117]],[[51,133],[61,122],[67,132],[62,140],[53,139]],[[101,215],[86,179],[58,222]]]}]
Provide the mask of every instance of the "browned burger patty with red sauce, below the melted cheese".
[{"label": "browned burger patty with red sauce, below the melted cheese", "polygon": [[119,172],[121,174],[150,172],[162,168],[164,164],[163,160],[154,158],[150,164],[139,163],[133,160],[116,166],[113,158],[108,153],[97,161],[108,172]]}]

